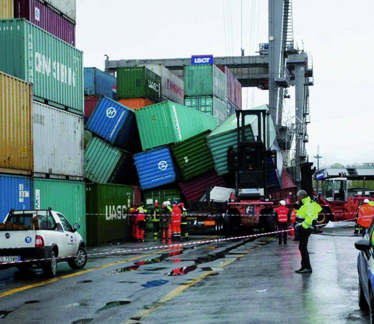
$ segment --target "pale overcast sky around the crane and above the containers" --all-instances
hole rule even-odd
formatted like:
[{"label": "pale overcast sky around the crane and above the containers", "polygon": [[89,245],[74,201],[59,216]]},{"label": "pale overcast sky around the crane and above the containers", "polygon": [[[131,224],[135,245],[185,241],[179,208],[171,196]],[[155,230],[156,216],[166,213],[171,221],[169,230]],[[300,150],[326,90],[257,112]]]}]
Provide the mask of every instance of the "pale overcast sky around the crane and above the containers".
[{"label": "pale overcast sky around the crane and above the containers", "polygon": [[[78,0],[77,47],[84,66],[110,59],[192,54],[254,54],[267,42],[267,0]],[[374,162],[374,1],[293,0],[294,39],[311,52],[310,161]],[[242,16],[242,28],[241,28]],[[242,32],[241,32],[242,30]],[[303,45],[304,44],[304,45]],[[285,109],[294,115],[294,88]],[[268,103],[268,91],[243,89],[243,107]]]}]

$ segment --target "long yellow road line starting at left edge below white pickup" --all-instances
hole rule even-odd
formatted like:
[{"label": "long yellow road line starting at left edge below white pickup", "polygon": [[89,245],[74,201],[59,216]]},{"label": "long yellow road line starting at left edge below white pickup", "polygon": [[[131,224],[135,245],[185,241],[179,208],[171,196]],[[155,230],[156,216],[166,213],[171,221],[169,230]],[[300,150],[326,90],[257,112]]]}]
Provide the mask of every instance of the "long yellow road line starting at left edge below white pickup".
[{"label": "long yellow road line starting at left edge below white pickup", "polygon": [[[216,237],[217,236],[211,236],[209,239],[214,239]],[[199,241],[205,241],[205,240],[206,239],[199,240]],[[196,241],[196,242],[199,242],[199,241]],[[149,257],[151,255],[159,254],[160,252],[168,252],[168,251],[170,252],[171,250],[178,250],[178,249],[179,249],[178,246],[175,246],[175,247],[172,247],[171,249],[169,248],[169,249],[164,249],[164,250],[158,250],[158,251],[155,251],[155,252],[152,252],[152,253],[149,253],[149,254],[142,254],[140,256],[133,257],[133,258],[130,258],[130,259],[127,259],[127,260],[121,260],[121,261],[117,261],[117,262],[107,263],[107,264],[102,265],[102,266],[98,266],[98,267],[95,267],[95,268],[90,268],[90,269],[74,272],[74,273],[69,274],[69,275],[59,276],[59,277],[56,277],[56,278],[41,281],[39,283],[30,284],[30,285],[10,289],[6,292],[0,293],[0,298],[10,296],[10,295],[13,295],[13,294],[16,294],[16,293],[20,293],[20,292],[23,292],[25,290],[29,290],[29,289],[32,289],[32,288],[49,285],[49,284],[55,283],[56,281],[59,281],[60,279],[67,279],[67,278],[71,278],[71,277],[80,276],[80,275],[83,275],[83,274],[88,273],[88,272],[92,272],[92,271],[96,271],[96,270],[100,270],[100,269],[105,269],[105,268],[109,268],[109,267],[112,267],[112,266],[116,266],[116,265],[120,265],[120,264],[123,264],[123,263],[127,263],[127,262],[131,262],[131,261],[134,261],[134,260]]]}]

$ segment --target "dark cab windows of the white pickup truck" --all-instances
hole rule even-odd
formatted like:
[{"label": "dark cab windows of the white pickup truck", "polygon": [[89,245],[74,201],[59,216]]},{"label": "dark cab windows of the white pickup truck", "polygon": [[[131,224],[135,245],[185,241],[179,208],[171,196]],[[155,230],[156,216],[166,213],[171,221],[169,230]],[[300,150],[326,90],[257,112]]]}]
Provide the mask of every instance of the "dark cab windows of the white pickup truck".
[{"label": "dark cab windows of the white pickup truck", "polygon": [[14,225],[25,225],[30,230],[54,230],[56,223],[47,211],[14,212],[6,219]]}]

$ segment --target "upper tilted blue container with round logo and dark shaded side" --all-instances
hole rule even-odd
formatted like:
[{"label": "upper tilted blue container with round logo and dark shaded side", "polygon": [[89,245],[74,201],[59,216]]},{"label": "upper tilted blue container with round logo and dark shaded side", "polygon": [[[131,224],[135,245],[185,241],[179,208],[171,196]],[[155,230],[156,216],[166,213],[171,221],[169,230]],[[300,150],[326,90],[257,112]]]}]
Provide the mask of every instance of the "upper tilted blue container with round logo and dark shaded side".
[{"label": "upper tilted blue container with round logo and dark shaded side", "polygon": [[97,103],[86,128],[114,146],[130,152],[141,151],[134,111],[108,97]]}]

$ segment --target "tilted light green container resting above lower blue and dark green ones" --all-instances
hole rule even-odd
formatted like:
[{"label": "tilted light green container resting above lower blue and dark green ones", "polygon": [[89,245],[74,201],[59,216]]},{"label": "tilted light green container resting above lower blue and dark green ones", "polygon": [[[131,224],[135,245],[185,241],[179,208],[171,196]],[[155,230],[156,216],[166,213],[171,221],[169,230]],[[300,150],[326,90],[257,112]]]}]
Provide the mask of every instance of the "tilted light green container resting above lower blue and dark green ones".
[{"label": "tilted light green container resting above lower blue and dark green ones", "polygon": [[135,111],[143,150],[178,143],[218,126],[217,118],[173,101]]}]

